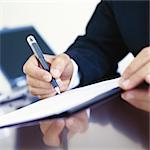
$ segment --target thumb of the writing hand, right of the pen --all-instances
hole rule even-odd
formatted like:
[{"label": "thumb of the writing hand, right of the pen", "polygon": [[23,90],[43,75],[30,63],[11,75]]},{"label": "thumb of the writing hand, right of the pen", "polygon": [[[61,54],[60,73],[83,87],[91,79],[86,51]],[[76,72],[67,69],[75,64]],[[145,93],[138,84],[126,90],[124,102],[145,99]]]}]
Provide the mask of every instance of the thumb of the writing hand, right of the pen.
[{"label": "thumb of the writing hand, right of the pen", "polygon": [[70,57],[67,54],[60,54],[56,56],[54,61],[51,63],[50,73],[54,78],[60,78],[61,74],[64,72],[65,68],[70,62]]}]

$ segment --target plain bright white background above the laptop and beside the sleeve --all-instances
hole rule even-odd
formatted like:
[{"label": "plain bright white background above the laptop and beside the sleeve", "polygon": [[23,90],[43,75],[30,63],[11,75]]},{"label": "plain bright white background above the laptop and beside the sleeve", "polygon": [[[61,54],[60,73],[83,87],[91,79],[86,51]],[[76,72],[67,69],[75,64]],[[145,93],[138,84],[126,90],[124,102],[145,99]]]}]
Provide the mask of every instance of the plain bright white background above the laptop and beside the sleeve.
[{"label": "plain bright white background above the laptop and beside the sleeve", "polygon": [[1,0],[0,28],[34,26],[61,53],[83,34],[100,0]]}]

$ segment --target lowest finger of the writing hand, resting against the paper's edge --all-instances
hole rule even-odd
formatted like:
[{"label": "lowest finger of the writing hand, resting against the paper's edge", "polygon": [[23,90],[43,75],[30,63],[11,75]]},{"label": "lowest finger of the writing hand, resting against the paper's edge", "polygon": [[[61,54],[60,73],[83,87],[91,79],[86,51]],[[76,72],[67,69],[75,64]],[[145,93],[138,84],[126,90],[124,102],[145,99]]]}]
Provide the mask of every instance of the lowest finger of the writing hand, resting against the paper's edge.
[{"label": "lowest finger of the writing hand, resting against the paper's edge", "polygon": [[29,91],[34,96],[51,95],[51,94],[53,94],[53,92],[56,93],[56,91],[53,91],[53,90],[50,90],[50,89],[34,88],[32,86],[29,86]]}]

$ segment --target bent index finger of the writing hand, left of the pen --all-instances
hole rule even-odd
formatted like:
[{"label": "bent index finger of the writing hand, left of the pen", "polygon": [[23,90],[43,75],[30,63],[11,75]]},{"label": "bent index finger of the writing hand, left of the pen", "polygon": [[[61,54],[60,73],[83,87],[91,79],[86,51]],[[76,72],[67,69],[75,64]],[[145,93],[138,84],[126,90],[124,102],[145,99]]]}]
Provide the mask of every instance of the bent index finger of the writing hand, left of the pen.
[{"label": "bent index finger of the writing hand, left of the pen", "polygon": [[35,56],[32,56],[23,66],[23,72],[26,75],[32,76],[38,80],[51,81],[51,74],[39,67],[38,61]]}]

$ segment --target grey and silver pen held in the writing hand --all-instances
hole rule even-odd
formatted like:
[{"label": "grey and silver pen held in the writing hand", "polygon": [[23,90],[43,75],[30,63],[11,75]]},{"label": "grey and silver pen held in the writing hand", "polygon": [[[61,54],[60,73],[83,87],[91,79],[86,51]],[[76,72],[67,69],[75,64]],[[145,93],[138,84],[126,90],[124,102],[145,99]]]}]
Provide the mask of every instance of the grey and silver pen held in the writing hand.
[{"label": "grey and silver pen held in the writing hand", "polygon": [[[38,45],[37,41],[35,40],[34,36],[29,35],[27,37],[27,42],[30,45],[35,57],[39,60],[40,64],[42,65],[43,69],[50,72],[50,66],[47,64],[47,62],[44,59],[42,50],[40,46]],[[51,84],[56,90],[57,94],[60,94],[60,88],[56,82],[56,80],[52,77]]]}]

